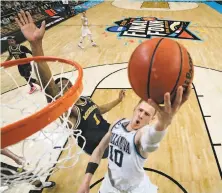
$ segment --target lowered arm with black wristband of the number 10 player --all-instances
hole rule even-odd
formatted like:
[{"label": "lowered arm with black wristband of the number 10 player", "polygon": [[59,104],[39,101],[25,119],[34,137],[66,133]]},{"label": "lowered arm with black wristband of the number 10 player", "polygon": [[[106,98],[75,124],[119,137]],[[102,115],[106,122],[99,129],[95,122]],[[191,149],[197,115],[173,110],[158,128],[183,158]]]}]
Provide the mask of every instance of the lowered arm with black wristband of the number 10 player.
[{"label": "lowered arm with black wristband of the number 10 player", "polygon": [[80,185],[80,188],[77,193],[89,193],[89,186],[93,174],[96,171],[97,167],[99,166],[102,156],[109,145],[111,137],[111,128],[112,126],[110,127],[107,134],[103,137],[99,145],[96,147],[96,149],[93,151],[86,168],[86,174],[84,176],[83,182]]}]

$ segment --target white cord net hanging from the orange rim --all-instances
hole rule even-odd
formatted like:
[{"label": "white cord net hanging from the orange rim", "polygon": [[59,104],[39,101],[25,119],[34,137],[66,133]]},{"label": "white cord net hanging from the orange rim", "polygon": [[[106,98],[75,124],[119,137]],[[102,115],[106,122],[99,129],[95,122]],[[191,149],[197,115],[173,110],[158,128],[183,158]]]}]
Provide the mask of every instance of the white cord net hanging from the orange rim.
[{"label": "white cord net hanging from the orange rim", "polygon": [[[19,86],[17,83],[18,80],[12,74],[12,68],[15,69],[17,66],[1,68],[1,75],[4,75],[4,80],[9,81],[15,88],[1,94],[1,127],[30,116],[48,105],[46,100],[47,94],[45,93],[48,84],[43,88],[38,70],[36,70],[37,73],[35,74],[34,68],[36,68],[36,63],[34,61],[31,63],[31,77],[38,78],[42,87],[41,89],[40,86],[35,85],[38,87],[38,90],[32,94],[28,94],[29,84]],[[58,69],[60,71],[56,76],[51,77],[51,79],[65,77],[72,84],[75,84],[78,71],[74,67],[60,62],[48,62],[48,64],[53,68],[56,67],[57,72]],[[64,72],[67,70],[67,66],[69,67],[69,72]],[[52,101],[62,96],[66,87],[67,84],[61,84],[60,92],[56,97],[51,97]],[[17,144],[7,147],[13,153],[24,157],[25,162],[22,166],[18,166],[8,157],[1,156],[2,186],[14,186],[21,183],[31,184],[42,177],[51,175],[59,169],[75,166],[80,154],[83,152],[81,148],[77,148],[78,140],[82,138],[85,141],[85,138],[81,135],[80,130],[73,130],[74,124],[70,119],[73,105],[67,112],[63,113],[62,116],[45,128],[42,128]],[[62,156],[60,157],[61,154]],[[16,170],[10,166],[14,166]]]}]

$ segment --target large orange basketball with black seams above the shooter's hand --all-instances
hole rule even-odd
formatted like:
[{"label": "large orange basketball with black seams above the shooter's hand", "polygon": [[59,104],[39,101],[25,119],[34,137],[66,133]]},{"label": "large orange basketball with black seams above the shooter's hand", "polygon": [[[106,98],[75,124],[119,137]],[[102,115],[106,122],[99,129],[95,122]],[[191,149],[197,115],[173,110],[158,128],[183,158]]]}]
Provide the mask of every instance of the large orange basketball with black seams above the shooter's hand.
[{"label": "large orange basketball with black seams above the shooter's hand", "polygon": [[164,94],[175,99],[176,90],[185,91],[192,83],[194,67],[184,46],[167,38],[144,41],[132,53],[128,64],[128,78],[134,92],[142,99],[164,102]]}]

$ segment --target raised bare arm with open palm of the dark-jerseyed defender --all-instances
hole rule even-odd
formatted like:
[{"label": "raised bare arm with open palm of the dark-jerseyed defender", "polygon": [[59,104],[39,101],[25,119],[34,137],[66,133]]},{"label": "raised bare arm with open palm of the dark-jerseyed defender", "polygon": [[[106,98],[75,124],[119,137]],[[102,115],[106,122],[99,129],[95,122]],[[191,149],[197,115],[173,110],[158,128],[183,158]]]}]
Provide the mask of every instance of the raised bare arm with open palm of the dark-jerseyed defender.
[{"label": "raised bare arm with open palm of the dark-jerseyed defender", "polygon": [[[18,18],[15,19],[16,23],[20,27],[23,35],[29,41],[32,55],[33,56],[44,56],[44,51],[42,47],[42,40],[45,34],[45,21],[42,22],[41,27],[37,28],[33,22],[32,16],[28,11],[24,12],[23,10],[18,13]],[[42,81],[43,87],[47,85],[50,78],[52,77],[49,66],[45,61],[38,62],[38,71]],[[54,80],[52,79],[45,89],[46,94],[55,97],[58,93],[58,87],[55,85]],[[47,101],[51,101],[51,97],[47,97]]]}]

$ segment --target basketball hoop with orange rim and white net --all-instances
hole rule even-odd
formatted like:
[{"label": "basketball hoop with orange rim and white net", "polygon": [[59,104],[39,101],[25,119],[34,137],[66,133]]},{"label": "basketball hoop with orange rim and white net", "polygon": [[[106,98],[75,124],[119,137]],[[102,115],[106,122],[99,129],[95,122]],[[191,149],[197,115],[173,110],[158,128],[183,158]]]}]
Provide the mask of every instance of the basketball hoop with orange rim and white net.
[{"label": "basketball hoop with orange rim and white net", "polygon": [[[36,66],[36,63],[42,65],[40,62],[47,62],[50,66],[54,65],[60,72],[53,75],[45,86],[42,84]],[[32,68],[36,69],[36,76],[42,88],[41,92],[32,95],[27,95],[24,92],[25,87],[19,86],[12,75],[13,71],[10,71],[10,67],[27,63],[33,63],[34,67],[32,66]],[[51,63],[53,64],[51,65]],[[71,71],[69,67],[69,71],[65,72],[64,69],[67,65],[64,66],[64,64],[69,64],[72,68]],[[76,129],[74,132],[74,125],[70,121],[72,107],[83,90],[82,67],[70,60],[38,56],[1,63],[1,72],[5,73],[5,76],[9,76],[17,88],[1,95],[1,110],[4,112],[3,121],[1,120],[1,148],[10,146],[12,151],[20,149],[19,152],[22,152],[23,157],[29,161],[22,166],[25,172],[15,173],[12,171],[13,175],[11,176],[1,174],[2,181],[9,186],[22,182],[30,183],[39,177],[47,177],[58,169],[73,167],[78,162],[85,146],[84,144],[82,149],[76,148],[78,147],[78,139],[85,140],[85,138],[81,135],[81,130]],[[32,70],[32,75],[33,72],[34,70]],[[52,102],[47,103],[45,99],[48,94],[45,93],[45,89],[54,77],[66,77],[74,84],[66,92],[64,89],[67,85],[62,86],[59,93],[52,97]],[[38,155],[32,152],[34,146],[41,145],[43,147],[40,147],[41,151],[38,152]],[[64,151],[67,153],[58,160]],[[73,153],[73,151],[75,152]]]}]

